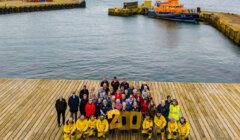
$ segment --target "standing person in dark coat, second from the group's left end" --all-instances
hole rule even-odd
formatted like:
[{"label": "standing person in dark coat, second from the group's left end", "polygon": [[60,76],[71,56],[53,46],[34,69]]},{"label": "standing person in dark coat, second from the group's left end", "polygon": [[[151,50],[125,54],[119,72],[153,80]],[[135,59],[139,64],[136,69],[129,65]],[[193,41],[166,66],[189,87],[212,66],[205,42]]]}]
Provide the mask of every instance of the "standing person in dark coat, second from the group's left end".
[{"label": "standing person in dark coat, second from the group's left end", "polygon": [[68,99],[68,106],[70,108],[71,117],[77,121],[77,112],[79,106],[79,97],[76,95],[75,92],[72,93],[72,96]]}]

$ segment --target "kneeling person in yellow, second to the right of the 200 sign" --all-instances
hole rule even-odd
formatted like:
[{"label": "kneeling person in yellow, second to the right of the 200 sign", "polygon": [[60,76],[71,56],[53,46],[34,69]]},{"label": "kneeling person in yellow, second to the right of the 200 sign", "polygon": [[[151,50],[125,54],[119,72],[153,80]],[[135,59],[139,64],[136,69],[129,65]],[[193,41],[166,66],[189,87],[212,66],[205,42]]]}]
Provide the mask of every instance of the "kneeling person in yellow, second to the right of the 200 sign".
[{"label": "kneeling person in yellow, second to the right of the 200 sign", "polygon": [[165,126],[167,124],[167,121],[165,117],[161,114],[161,112],[157,112],[157,114],[154,117],[154,124],[156,127],[157,134],[161,133],[162,139],[165,138]]}]

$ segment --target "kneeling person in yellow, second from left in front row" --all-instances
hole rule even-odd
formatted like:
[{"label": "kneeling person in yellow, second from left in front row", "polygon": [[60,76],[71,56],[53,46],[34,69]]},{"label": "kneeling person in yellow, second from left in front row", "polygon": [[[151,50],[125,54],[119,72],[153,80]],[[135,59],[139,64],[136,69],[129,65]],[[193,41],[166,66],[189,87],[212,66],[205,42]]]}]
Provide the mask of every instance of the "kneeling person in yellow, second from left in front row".
[{"label": "kneeling person in yellow, second from left in front row", "polygon": [[85,134],[88,129],[88,121],[85,119],[84,115],[81,115],[76,122],[76,139],[81,139],[81,137],[85,137]]}]

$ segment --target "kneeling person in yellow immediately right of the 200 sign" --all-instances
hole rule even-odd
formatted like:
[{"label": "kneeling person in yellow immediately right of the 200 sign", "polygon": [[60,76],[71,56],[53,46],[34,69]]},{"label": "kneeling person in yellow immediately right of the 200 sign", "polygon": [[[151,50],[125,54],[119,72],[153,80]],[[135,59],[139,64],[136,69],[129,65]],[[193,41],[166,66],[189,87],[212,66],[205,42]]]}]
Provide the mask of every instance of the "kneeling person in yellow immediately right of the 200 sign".
[{"label": "kneeling person in yellow immediately right of the 200 sign", "polygon": [[151,120],[149,114],[146,114],[142,127],[143,127],[142,134],[147,134],[148,139],[152,139],[153,121]]}]

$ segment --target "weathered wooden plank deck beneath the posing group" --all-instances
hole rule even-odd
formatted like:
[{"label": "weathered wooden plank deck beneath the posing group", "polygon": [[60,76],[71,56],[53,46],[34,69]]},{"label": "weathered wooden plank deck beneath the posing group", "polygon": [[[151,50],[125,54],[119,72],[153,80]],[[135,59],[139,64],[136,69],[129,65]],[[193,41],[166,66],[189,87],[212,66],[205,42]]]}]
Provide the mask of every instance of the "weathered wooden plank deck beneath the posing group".
[{"label": "weathered wooden plank deck beneath the posing group", "polygon": [[[167,95],[179,100],[191,124],[191,139],[240,139],[240,84],[147,83],[156,103]],[[84,84],[90,90],[99,87],[99,81],[91,80],[0,79],[0,139],[62,139],[55,100],[68,98]],[[118,133],[108,139],[144,139],[139,133]]]}]

